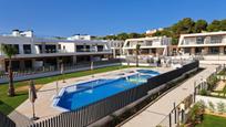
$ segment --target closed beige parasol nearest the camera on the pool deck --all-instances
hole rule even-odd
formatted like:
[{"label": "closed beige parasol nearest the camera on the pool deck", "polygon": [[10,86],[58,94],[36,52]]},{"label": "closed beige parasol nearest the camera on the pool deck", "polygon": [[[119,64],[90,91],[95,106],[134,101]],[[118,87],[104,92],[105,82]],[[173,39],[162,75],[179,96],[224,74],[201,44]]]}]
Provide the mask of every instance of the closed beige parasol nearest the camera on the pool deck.
[{"label": "closed beige parasol nearest the camera on the pool deck", "polygon": [[37,89],[34,87],[34,83],[32,80],[30,81],[29,99],[32,104],[32,114],[33,114],[31,120],[37,120],[37,119],[39,119],[39,117],[35,116],[35,112],[34,112],[34,102],[37,99]]}]

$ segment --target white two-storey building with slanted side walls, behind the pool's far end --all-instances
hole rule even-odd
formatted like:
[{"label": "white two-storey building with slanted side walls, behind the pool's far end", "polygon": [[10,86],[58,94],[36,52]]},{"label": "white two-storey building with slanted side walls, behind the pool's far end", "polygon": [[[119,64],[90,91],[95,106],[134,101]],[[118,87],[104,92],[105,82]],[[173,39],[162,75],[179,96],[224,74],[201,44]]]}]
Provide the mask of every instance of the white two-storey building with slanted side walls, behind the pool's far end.
[{"label": "white two-storey building with slanted side walls, behind the pool's far end", "polygon": [[127,39],[123,45],[123,54],[134,55],[136,44],[140,44],[141,55],[168,55],[171,41],[172,39],[166,36]]}]

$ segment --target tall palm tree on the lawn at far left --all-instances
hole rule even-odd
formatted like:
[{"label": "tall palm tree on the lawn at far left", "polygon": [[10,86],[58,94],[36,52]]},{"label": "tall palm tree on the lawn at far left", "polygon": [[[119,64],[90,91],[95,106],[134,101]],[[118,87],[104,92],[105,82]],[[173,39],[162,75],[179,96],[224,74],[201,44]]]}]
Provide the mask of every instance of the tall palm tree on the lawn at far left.
[{"label": "tall palm tree on the lawn at far left", "polygon": [[14,96],[13,86],[13,72],[12,72],[12,56],[14,56],[18,50],[11,44],[1,44],[0,50],[9,59],[8,74],[9,74],[9,96]]}]

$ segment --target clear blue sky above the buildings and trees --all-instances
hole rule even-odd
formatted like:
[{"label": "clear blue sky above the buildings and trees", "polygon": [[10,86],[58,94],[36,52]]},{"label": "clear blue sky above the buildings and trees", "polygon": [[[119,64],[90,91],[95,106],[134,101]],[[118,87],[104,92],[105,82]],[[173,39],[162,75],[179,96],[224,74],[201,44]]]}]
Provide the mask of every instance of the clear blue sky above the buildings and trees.
[{"label": "clear blue sky above the buildings and trees", "polygon": [[0,0],[0,33],[106,35],[165,28],[183,18],[226,19],[226,0]]}]

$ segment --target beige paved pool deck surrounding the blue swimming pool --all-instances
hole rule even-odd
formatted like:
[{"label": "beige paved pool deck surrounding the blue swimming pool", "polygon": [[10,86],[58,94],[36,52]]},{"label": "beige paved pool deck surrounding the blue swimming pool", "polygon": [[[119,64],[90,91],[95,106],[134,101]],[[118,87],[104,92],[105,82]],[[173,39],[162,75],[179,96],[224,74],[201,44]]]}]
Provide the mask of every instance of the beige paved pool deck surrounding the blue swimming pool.
[{"label": "beige paved pool deck surrounding the blue swimming pool", "polygon": [[[135,67],[131,68],[124,68],[124,70],[117,70],[106,73],[100,73],[95,74],[94,77],[92,75],[83,76],[83,77],[75,77],[65,80],[65,83],[62,83],[62,81],[59,82],[60,88],[63,88],[65,86],[70,86],[73,84],[93,81],[95,78],[116,78],[121,77],[122,75],[119,75],[120,73],[131,74],[130,71],[135,70]],[[145,68],[147,70],[147,68]],[[150,68],[155,70],[158,72],[166,72],[172,68]],[[45,118],[49,118],[51,116],[55,116],[62,113],[62,110],[59,110],[52,106],[53,98],[56,95],[55,91],[55,82],[45,84],[42,88],[38,92],[38,99],[35,100],[35,114],[40,117],[40,120],[43,120]],[[29,99],[27,99],[24,103],[22,103],[14,112],[12,112],[9,117],[17,123],[18,127],[24,127],[24,124],[29,124],[32,116],[32,108],[31,103]]]}]

